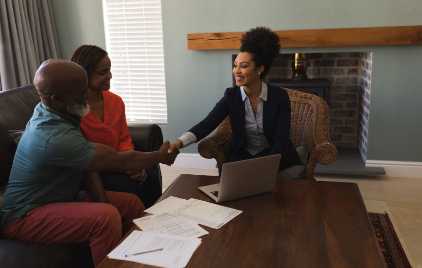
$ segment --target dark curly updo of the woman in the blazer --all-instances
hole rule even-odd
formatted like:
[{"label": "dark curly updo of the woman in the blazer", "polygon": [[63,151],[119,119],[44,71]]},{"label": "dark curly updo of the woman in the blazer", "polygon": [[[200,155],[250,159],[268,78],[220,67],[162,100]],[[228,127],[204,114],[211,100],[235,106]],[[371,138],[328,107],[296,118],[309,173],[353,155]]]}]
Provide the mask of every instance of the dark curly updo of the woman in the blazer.
[{"label": "dark curly updo of the woman in the blazer", "polygon": [[252,54],[257,67],[264,65],[260,77],[263,79],[280,50],[280,37],[268,27],[256,27],[242,34],[240,52]]}]

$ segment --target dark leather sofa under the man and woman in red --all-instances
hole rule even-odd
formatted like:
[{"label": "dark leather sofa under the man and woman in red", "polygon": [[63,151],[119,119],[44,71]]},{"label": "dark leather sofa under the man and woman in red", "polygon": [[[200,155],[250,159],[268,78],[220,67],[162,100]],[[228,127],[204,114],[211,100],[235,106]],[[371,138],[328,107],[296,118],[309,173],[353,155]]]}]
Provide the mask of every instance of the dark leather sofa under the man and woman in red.
[{"label": "dark leather sofa under the man and woman in red", "polygon": [[[0,203],[7,184],[16,145],[9,130],[23,130],[40,97],[33,85],[0,92]],[[135,150],[156,151],[163,142],[155,124],[130,124]],[[161,182],[159,165],[154,166]],[[162,186],[162,184],[161,184]],[[1,207],[1,205],[0,205]],[[88,243],[69,245],[29,244],[0,238],[0,266],[7,268],[91,268]]]}]

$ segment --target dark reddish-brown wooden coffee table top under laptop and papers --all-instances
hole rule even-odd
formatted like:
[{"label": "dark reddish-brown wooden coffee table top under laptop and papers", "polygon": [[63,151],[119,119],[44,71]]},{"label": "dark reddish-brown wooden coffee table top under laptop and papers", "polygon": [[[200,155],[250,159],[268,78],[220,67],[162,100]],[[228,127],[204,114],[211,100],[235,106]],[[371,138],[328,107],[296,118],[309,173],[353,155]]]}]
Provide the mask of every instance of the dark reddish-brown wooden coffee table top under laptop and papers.
[{"label": "dark reddish-brown wooden coffee table top under laptop and papers", "polygon": [[[182,174],[158,201],[211,202],[198,187],[218,182],[217,176]],[[220,229],[201,226],[210,234],[187,268],[386,267],[357,184],[277,180],[273,192],[221,205],[243,212]],[[99,266],[144,267],[151,266],[108,258]]]}]

